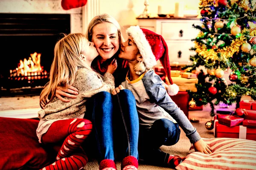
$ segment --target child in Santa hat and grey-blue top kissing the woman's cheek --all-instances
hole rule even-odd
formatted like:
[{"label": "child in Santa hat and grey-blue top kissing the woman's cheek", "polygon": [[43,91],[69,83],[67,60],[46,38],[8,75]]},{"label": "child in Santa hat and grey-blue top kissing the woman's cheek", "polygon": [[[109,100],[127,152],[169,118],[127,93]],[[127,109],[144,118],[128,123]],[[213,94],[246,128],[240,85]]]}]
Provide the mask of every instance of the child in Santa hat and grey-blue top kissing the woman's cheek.
[{"label": "child in Santa hat and grey-blue top kissing the woman's cheek", "polygon": [[[159,149],[171,146],[180,138],[179,126],[186,133],[195,149],[211,153],[210,147],[201,139],[183,111],[172,101],[170,95],[178,92],[170,76],[168,47],[161,35],[153,31],[131,26],[127,29],[128,40],[122,43],[119,57],[128,61],[129,71],[122,87],[112,91],[113,95],[125,88],[134,94],[140,120],[140,159],[164,167],[175,168],[185,157],[172,156]],[[152,69],[160,59],[171,85],[168,94],[160,77]],[[120,91],[121,90],[121,91]]]}]

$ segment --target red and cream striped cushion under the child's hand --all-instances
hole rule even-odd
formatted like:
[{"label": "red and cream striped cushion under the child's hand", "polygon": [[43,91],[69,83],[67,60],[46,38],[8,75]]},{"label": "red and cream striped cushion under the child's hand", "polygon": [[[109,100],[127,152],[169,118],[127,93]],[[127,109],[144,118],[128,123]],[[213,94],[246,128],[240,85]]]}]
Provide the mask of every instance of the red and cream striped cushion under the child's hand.
[{"label": "red and cream striped cushion under the child's hand", "polygon": [[195,152],[189,155],[177,170],[256,170],[256,141],[232,138],[203,139],[212,149],[211,154]]}]

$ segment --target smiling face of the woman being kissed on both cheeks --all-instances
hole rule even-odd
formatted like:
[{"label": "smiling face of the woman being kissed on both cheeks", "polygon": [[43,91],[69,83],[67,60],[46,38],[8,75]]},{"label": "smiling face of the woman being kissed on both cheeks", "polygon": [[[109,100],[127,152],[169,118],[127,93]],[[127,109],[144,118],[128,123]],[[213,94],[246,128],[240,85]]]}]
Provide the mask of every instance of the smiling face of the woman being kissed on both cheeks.
[{"label": "smiling face of the woman being kissed on both cheeks", "polygon": [[97,24],[93,27],[92,42],[104,61],[110,59],[119,49],[116,26],[107,22]]}]

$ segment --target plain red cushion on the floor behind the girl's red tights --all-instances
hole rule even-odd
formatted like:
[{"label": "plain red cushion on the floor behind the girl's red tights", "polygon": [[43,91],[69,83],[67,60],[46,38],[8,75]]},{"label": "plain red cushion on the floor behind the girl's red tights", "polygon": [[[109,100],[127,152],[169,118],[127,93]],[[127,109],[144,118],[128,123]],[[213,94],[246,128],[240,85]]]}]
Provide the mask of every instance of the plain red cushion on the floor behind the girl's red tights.
[{"label": "plain red cushion on the floor behind the girl's red tights", "polygon": [[0,170],[39,169],[54,162],[57,153],[38,142],[38,122],[0,117]]}]

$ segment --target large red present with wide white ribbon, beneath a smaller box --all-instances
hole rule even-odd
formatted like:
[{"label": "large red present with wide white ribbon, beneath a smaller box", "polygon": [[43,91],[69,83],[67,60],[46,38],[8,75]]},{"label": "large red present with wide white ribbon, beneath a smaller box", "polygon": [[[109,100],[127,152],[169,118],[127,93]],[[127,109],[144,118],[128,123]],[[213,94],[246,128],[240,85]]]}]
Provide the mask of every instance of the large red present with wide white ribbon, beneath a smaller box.
[{"label": "large red present with wide white ribbon, beneath a smaller box", "polygon": [[256,128],[243,125],[228,127],[215,122],[215,138],[239,138],[256,141]]}]

